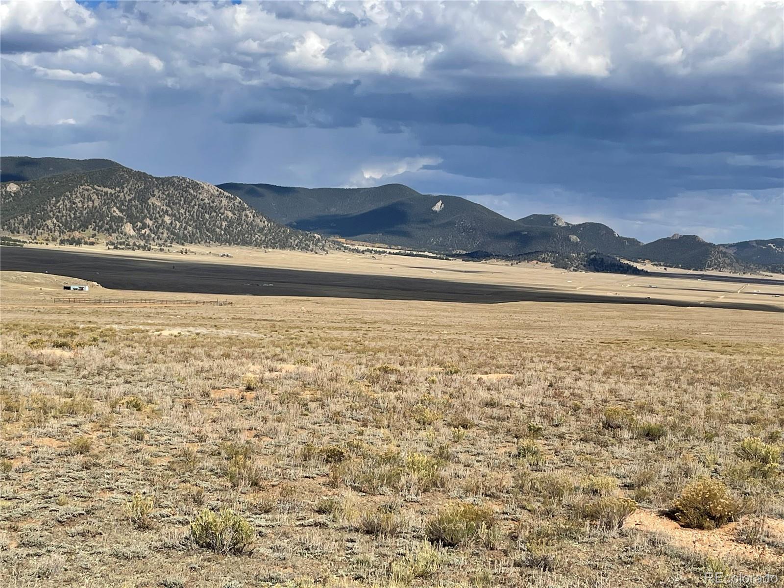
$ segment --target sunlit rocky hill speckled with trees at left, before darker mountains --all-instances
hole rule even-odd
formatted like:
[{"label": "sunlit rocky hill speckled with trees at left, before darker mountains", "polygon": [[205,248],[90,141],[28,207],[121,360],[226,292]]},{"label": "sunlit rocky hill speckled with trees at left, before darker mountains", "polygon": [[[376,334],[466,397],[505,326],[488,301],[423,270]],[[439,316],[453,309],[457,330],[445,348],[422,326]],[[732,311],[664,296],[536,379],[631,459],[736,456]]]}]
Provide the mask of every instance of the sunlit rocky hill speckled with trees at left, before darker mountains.
[{"label": "sunlit rocky hill speckled with trees at left, before darker mountains", "polygon": [[[208,183],[159,178],[120,165],[0,184],[0,229],[80,242],[95,236],[139,246],[225,244],[324,249]],[[75,239],[75,241],[74,241]]]}]

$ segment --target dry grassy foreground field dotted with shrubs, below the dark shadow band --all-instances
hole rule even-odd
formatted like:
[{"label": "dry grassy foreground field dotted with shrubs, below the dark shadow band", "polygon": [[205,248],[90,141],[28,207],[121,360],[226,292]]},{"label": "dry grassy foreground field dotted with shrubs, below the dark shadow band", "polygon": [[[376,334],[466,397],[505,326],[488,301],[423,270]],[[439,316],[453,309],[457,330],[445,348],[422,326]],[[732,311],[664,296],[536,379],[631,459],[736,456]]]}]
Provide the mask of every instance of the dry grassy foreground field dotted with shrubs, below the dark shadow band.
[{"label": "dry grassy foreground field dotted with shrubs, below the dark shadow band", "polygon": [[[781,468],[750,452],[782,443],[779,314],[53,304],[69,281],[0,274],[4,585],[702,586],[709,571],[784,572]],[[662,515],[700,477],[729,488],[739,521],[699,531]],[[223,508],[249,524],[241,553],[198,544],[199,514]]]}]

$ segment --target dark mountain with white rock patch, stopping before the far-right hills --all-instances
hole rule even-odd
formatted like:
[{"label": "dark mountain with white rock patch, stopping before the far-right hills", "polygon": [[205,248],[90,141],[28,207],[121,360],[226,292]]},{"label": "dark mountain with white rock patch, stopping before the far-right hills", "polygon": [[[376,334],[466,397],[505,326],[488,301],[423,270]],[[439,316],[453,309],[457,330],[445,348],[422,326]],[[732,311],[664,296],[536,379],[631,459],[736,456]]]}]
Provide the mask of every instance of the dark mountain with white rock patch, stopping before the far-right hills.
[{"label": "dark mountain with white rock patch, stopping before the far-right hills", "polygon": [[629,253],[640,241],[597,223],[560,217],[507,219],[465,198],[419,194],[401,184],[369,188],[299,188],[222,183],[262,214],[289,227],[332,237],[433,252],[529,251]]}]

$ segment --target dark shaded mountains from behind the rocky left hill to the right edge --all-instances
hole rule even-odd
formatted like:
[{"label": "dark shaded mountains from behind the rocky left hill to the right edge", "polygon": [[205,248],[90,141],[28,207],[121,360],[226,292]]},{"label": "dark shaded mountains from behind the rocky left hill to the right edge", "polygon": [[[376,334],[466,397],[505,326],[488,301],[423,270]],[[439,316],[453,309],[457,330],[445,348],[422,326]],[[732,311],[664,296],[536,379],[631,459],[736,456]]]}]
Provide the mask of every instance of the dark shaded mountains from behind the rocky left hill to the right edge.
[{"label": "dark shaded mountains from behind the rocky left hill to the right edge", "polygon": [[419,194],[401,184],[299,188],[222,183],[219,187],[289,227],[408,249],[501,256],[601,252],[694,270],[784,266],[784,239],[715,245],[696,235],[674,234],[642,243],[601,223],[572,224],[546,214],[511,220],[465,198]]}]

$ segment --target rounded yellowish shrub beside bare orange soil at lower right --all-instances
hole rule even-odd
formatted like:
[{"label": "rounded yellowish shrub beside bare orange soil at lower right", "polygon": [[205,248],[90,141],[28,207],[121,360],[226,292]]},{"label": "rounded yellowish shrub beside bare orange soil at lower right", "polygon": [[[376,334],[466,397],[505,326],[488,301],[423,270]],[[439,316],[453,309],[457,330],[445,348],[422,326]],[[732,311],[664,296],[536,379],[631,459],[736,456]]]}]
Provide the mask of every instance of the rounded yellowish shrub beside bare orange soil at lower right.
[{"label": "rounded yellowish shrub beside bare orange soil at lower right", "polygon": [[675,520],[688,528],[719,528],[735,521],[740,510],[740,504],[732,497],[727,486],[707,477],[686,485],[673,503]]}]

